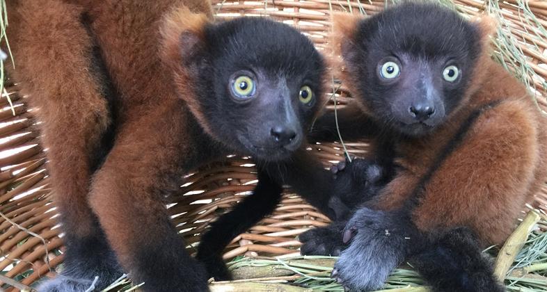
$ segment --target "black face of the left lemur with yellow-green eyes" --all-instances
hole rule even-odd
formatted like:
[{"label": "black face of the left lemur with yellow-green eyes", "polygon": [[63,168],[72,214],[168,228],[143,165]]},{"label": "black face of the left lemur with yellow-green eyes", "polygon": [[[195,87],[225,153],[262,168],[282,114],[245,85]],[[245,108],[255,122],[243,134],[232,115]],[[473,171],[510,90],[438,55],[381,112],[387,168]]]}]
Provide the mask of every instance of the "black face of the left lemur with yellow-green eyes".
[{"label": "black face of the left lemur with yellow-green eyes", "polygon": [[305,139],[322,96],[322,57],[290,26],[243,17],[206,30],[200,105],[214,136],[264,161]]}]

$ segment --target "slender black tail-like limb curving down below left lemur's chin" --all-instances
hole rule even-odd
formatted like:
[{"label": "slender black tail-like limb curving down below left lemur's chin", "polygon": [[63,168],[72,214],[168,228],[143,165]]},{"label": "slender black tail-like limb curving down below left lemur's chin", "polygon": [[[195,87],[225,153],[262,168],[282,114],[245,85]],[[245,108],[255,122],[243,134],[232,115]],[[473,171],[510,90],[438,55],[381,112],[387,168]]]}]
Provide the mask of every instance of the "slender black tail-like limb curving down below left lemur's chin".
[{"label": "slender black tail-like limb curving down below left lemur's chin", "polygon": [[201,238],[198,259],[205,263],[207,272],[216,280],[230,279],[230,273],[222,259],[224,248],[235,236],[253,227],[264,216],[274,211],[281,198],[283,188],[265,172],[259,170],[258,184],[244,200],[211,224]]}]

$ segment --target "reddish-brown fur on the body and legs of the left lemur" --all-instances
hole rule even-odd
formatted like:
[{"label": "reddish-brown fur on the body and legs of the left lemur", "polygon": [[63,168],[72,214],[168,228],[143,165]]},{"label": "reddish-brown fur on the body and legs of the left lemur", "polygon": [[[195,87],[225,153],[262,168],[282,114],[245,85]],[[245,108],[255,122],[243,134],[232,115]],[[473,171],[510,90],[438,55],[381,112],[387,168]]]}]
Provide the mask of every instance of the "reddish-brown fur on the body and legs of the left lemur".
[{"label": "reddish-brown fur on the body and legs of the left lemur", "polygon": [[[169,82],[173,67],[164,66],[157,54],[162,17],[170,8],[185,6],[180,19],[200,20],[177,22],[177,29],[196,31],[212,19],[210,3],[161,0],[149,2],[140,13],[127,13],[125,9],[141,8],[129,0],[82,1],[88,10],[55,0],[8,2],[13,74],[40,108],[54,199],[70,218],[64,228],[79,237],[93,234],[93,209],[122,266],[131,270],[138,249],[161,241],[157,234],[171,226],[159,200],[163,193],[157,190],[176,188],[176,181],[168,178],[181,177],[182,168],[188,167],[184,158],[199,151],[188,142],[189,113]],[[116,144],[91,184],[90,156],[111,121],[99,81],[90,74],[93,42],[81,24],[84,11],[90,29],[100,32],[97,42],[120,92]],[[125,23],[141,29],[126,31]],[[175,38],[166,46],[172,45],[170,40]],[[150,230],[158,233],[143,236],[143,226],[155,226]]]}]

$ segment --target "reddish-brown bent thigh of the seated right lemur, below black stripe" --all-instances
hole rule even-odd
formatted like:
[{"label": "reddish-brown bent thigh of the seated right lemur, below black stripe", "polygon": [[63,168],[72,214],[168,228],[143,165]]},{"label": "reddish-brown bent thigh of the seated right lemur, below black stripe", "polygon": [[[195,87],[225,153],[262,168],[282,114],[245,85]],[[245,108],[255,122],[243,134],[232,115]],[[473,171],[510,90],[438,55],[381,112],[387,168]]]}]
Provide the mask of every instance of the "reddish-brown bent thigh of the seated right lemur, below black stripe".
[{"label": "reddish-brown bent thigh of the seated right lemur, below black stripe", "polygon": [[419,229],[465,224],[482,243],[505,241],[514,214],[530,199],[522,194],[539,161],[534,111],[527,102],[508,101],[477,117],[425,184],[422,203],[413,211]]}]

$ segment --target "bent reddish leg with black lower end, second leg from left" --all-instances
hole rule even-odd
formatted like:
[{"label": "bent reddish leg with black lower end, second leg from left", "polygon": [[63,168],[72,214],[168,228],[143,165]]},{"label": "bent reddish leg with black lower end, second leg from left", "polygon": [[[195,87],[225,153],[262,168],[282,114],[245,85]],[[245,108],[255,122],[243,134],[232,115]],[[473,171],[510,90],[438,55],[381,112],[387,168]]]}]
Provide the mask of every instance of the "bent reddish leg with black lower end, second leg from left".
[{"label": "bent reddish leg with black lower end, second leg from left", "polygon": [[182,101],[158,99],[154,107],[135,109],[134,120],[119,130],[93,179],[90,204],[121,265],[135,283],[144,282],[143,291],[207,291],[205,268],[184,250],[165,200],[180,188],[185,166],[209,156],[207,144],[196,145],[199,137],[187,132]]}]

